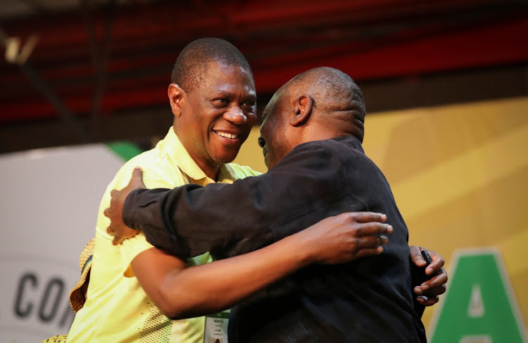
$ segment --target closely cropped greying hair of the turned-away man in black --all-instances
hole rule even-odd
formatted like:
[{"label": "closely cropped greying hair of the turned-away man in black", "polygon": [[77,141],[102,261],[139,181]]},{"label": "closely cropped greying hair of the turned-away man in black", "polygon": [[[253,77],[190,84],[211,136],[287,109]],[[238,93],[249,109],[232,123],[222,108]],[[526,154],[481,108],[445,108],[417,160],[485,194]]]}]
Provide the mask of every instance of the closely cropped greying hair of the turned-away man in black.
[{"label": "closely cropped greying hair of the turned-away man in black", "polygon": [[353,135],[363,142],[363,92],[346,73],[329,67],[313,68],[289,80],[277,93],[282,92],[307,94],[313,99],[319,125],[336,131],[335,135]]}]

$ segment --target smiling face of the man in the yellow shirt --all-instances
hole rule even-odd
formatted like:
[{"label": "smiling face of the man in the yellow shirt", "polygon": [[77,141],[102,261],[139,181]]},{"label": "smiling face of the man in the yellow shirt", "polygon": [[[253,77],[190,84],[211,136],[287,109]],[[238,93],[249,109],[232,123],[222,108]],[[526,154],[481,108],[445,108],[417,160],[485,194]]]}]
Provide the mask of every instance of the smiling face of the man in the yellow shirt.
[{"label": "smiling face of the man in the yellow shirt", "polygon": [[[255,82],[240,66],[208,63],[200,86],[187,94],[175,130],[196,164],[211,177],[237,156],[256,119]],[[214,177],[213,177],[214,178]]]}]

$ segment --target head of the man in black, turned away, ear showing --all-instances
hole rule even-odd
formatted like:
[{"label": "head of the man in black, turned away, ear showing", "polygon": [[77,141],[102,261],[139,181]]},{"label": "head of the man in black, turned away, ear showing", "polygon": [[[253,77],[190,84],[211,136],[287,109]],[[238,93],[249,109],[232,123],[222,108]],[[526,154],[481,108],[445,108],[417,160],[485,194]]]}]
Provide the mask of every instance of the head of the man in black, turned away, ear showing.
[{"label": "head of the man in black, turned away, ear showing", "polygon": [[363,142],[365,102],[350,76],[320,67],[282,86],[264,108],[258,144],[272,168],[298,144],[353,136]]}]

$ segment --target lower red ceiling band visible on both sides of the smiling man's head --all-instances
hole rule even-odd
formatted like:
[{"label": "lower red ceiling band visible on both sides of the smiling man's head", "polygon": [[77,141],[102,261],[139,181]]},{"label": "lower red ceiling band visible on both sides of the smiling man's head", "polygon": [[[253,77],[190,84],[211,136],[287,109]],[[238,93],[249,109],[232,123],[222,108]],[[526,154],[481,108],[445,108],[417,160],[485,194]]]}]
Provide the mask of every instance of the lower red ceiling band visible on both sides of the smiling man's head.
[{"label": "lower red ceiling band visible on both sides of the smiling man's head", "polygon": [[[478,30],[453,32],[403,44],[376,47],[360,53],[319,56],[308,61],[306,56],[299,54],[296,63],[288,66],[253,71],[258,92],[269,93],[275,92],[294,75],[315,66],[333,66],[348,73],[355,80],[371,80],[528,62],[528,44],[523,42],[528,42],[528,18]],[[167,80],[159,79],[159,86],[152,86],[155,81],[156,78],[143,88],[141,85],[135,85],[133,89],[127,89],[126,85],[111,87],[103,97],[102,111],[108,113],[139,106],[165,104],[168,76]],[[86,94],[70,95],[64,99],[73,113],[89,112],[90,100],[91,97]],[[55,116],[53,108],[45,101],[0,104],[0,113],[0,120],[3,121]]]}]

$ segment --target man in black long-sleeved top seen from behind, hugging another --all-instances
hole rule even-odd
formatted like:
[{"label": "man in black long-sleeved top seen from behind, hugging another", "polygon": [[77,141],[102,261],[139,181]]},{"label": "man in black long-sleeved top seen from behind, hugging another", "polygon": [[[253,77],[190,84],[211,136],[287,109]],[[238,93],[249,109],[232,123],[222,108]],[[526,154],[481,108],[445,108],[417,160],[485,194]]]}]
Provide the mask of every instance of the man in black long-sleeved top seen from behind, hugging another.
[{"label": "man in black long-sleeved top seen from behind, hugging another", "polygon": [[[363,94],[348,75],[308,70],[265,108],[259,143],[268,173],[232,185],[137,189],[122,220],[175,256],[227,258],[338,213],[386,213],[394,232],[382,254],[308,266],[242,301],[232,309],[230,343],[425,342],[413,308],[408,230],[361,147],[364,118]],[[122,226],[107,214],[109,230]]]}]

